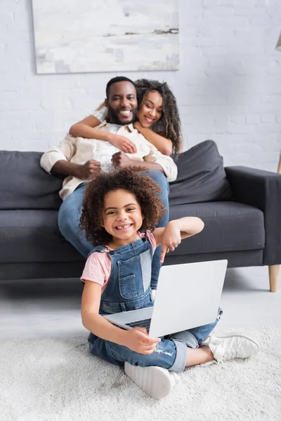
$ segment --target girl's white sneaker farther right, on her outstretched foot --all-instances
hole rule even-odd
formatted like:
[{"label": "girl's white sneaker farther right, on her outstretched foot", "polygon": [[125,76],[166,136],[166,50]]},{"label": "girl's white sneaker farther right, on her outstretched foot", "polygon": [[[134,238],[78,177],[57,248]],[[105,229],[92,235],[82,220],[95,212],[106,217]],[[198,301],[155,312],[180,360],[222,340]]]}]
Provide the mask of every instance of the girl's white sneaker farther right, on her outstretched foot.
[{"label": "girl's white sneaker farther right, on her outstretched foot", "polygon": [[[248,335],[239,332],[225,333],[224,335],[210,336],[202,342],[211,349],[216,363],[224,363],[233,358],[248,358],[259,352],[259,343]],[[208,361],[208,363],[212,363]],[[205,363],[208,365],[208,363]]]}]

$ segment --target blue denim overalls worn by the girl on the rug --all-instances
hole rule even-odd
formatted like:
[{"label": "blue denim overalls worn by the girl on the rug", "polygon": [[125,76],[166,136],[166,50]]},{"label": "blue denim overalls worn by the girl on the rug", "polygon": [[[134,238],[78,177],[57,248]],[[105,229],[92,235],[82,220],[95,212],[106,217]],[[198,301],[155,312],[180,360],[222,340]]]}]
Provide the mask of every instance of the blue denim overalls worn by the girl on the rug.
[{"label": "blue denim overalls worn by the girl on the rug", "polygon": [[[104,249],[105,246],[97,246],[91,253],[101,253]],[[152,306],[150,241],[143,237],[110,251],[108,255],[112,260],[112,272],[100,300],[100,314],[126,312]],[[172,281],[171,288],[173,288]],[[214,329],[218,319],[206,326],[169,335],[169,339],[162,338],[155,352],[149,355],[138,354],[128,347],[100,339],[90,333],[88,339],[90,352],[119,366],[123,366],[127,361],[134,366],[159,366],[178,373],[185,368],[187,347],[197,348]]]}]

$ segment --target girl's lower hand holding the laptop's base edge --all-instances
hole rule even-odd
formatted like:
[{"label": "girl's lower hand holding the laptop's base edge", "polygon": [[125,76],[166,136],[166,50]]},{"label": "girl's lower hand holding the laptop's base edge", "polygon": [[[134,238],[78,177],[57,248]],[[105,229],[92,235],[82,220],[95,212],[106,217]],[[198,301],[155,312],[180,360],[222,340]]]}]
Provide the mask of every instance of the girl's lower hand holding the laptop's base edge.
[{"label": "girl's lower hand holding the laptop's base edge", "polygon": [[133,328],[126,331],[126,347],[138,354],[152,354],[159,338],[150,338],[145,328]]}]

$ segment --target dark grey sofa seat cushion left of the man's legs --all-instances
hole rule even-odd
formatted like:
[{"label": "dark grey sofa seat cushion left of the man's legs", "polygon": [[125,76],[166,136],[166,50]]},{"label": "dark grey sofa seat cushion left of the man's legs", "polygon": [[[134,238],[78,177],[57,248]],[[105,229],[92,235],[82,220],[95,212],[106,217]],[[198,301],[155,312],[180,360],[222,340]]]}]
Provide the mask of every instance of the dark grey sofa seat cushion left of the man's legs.
[{"label": "dark grey sofa seat cushion left of the man's legs", "polygon": [[84,260],[60,235],[57,220],[57,210],[0,210],[0,263]]}]

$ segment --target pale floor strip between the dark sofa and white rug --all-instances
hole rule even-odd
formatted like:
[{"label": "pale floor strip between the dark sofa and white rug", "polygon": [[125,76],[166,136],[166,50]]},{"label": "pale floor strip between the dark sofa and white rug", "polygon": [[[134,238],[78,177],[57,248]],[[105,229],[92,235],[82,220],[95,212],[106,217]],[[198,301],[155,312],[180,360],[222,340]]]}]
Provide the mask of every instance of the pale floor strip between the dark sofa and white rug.
[{"label": "pale floor strip between the dark sofa and white rug", "polygon": [[[0,339],[86,335],[81,325],[79,279],[1,281]],[[269,292],[268,268],[228,269],[220,328],[281,326],[281,274]]]}]

